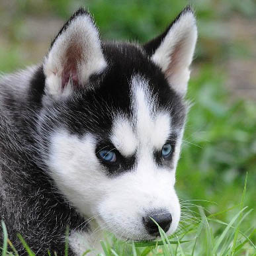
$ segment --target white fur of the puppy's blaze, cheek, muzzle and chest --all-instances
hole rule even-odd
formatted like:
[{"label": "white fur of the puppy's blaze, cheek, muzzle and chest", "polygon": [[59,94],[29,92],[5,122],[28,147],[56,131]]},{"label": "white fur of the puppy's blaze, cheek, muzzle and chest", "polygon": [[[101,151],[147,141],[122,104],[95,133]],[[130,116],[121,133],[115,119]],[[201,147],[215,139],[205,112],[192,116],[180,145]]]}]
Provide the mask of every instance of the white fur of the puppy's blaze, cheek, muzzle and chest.
[{"label": "white fur of the puppy's blaze, cheek, muzzle and chest", "polygon": [[[173,222],[167,234],[175,231],[180,218],[175,169],[158,167],[153,159],[153,150],[161,149],[171,132],[171,118],[157,110],[144,78],[135,75],[131,83],[135,118],[116,116],[111,140],[125,156],[136,152],[136,169],[107,177],[95,155],[93,135],[79,138],[64,129],[52,134],[48,166],[60,191],[81,214],[95,217],[98,230],[105,228],[122,239],[151,239],[142,223],[147,212],[163,208],[171,212]],[[175,161],[178,158],[176,149]],[[81,241],[81,237],[85,240]],[[73,232],[69,237],[77,255],[89,249],[92,239],[98,239],[95,232]],[[97,242],[95,248],[99,249],[99,239]]]}]

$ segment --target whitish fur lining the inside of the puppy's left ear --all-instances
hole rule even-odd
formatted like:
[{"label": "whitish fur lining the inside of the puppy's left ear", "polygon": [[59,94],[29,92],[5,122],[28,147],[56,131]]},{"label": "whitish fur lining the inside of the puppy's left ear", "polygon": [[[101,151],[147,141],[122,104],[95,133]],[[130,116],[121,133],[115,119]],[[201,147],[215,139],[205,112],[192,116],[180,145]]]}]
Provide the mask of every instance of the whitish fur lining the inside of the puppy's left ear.
[{"label": "whitish fur lining the inside of the puppy's left ear", "polygon": [[[89,76],[101,72],[107,62],[101,50],[99,32],[89,15],[75,17],[67,26],[66,30],[56,38],[48,56],[44,60],[44,73],[46,74],[46,93],[54,99],[67,97],[72,92],[72,82],[62,89],[62,77],[64,66],[67,64],[65,54],[79,49],[81,56],[75,60],[78,80],[81,85],[87,83]],[[71,74],[70,74],[71,75]]]}]

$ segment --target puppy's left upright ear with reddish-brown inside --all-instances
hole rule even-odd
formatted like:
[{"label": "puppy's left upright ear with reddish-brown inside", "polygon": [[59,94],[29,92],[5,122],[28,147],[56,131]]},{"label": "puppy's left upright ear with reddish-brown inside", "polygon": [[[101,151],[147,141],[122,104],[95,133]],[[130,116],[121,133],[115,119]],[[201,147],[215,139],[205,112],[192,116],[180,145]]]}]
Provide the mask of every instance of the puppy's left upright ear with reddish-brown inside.
[{"label": "puppy's left upright ear with reddish-brown inside", "polygon": [[44,60],[45,93],[54,99],[67,97],[77,87],[86,87],[90,75],[106,66],[93,19],[79,9],[64,24]]}]

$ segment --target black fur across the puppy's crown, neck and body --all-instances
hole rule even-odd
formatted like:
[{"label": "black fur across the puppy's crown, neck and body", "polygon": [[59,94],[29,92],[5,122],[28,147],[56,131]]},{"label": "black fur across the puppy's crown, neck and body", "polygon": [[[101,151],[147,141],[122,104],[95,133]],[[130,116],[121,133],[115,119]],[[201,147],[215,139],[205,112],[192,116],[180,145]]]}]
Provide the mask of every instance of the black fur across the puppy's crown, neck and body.
[{"label": "black fur across the puppy's crown, neck and body", "polygon": [[[79,9],[59,34],[77,15],[87,14],[84,9]],[[172,126],[183,126],[186,115],[183,99],[169,87],[159,67],[149,60],[166,33],[167,30],[144,47],[127,43],[103,44],[108,69],[91,76],[89,83],[94,89],[78,88],[64,102],[52,101],[43,105],[45,75],[42,65],[30,79],[25,97],[13,97],[11,93],[0,97],[3,101],[0,112],[0,185],[4,191],[0,194],[0,218],[5,221],[9,238],[21,255],[26,253],[17,239],[17,232],[22,234],[36,255],[46,255],[47,249],[64,255],[66,226],[79,230],[89,228],[84,224],[85,219],[58,192],[43,164],[42,156],[48,153],[50,130],[64,126],[71,134],[79,136],[91,132],[98,138],[101,134],[99,147],[103,142],[108,143],[113,113],[132,116],[130,79],[134,74],[149,81],[152,95],[157,95],[158,107],[169,110]],[[36,127],[38,116],[43,120],[39,130]],[[38,136],[42,139],[40,148],[44,149],[43,152],[37,150]],[[155,158],[161,164],[157,155]],[[124,170],[135,161],[135,157],[122,159]],[[107,170],[110,176],[120,174],[116,167]]]}]

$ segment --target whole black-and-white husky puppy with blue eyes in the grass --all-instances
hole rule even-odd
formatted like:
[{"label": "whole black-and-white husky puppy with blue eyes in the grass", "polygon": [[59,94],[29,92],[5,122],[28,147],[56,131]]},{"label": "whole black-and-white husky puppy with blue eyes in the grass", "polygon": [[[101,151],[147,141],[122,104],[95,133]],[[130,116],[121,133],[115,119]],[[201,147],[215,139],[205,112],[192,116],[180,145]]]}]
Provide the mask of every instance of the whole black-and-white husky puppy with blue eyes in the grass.
[{"label": "whole black-and-white husky puppy with blue eyes in the grass", "polygon": [[[42,64],[0,79],[0,218],[36,255],[99,251],[177,229],[174,189],[196,21],[186,7],[150,42],[102,42],[79,9]],[[1,232],[2,233],[2,232]],[[1,237],[3,235],[1,234]]]}]

